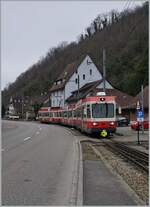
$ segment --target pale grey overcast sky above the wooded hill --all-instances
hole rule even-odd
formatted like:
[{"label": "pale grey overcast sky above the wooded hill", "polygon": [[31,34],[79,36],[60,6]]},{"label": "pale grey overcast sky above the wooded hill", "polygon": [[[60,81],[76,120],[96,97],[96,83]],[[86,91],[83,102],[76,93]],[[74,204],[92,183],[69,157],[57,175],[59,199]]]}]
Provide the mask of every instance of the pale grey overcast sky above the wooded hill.
[{"label": "pale grey overcast sky above the wooded hill", "polygon": [[1,88],[62,41],[76,41],[98,14],[143,1],[1,0]]}]

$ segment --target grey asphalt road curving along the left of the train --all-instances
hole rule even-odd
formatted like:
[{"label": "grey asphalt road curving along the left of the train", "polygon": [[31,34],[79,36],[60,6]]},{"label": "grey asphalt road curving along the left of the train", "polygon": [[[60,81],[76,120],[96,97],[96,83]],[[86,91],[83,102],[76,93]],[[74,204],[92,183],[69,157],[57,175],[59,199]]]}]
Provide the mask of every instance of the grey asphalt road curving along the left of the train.
[{"label": "grey asphalt road curving along the left of the train", "polygon": [[68,205],[75,137],[60,126],[2,122],[2,205]]}]

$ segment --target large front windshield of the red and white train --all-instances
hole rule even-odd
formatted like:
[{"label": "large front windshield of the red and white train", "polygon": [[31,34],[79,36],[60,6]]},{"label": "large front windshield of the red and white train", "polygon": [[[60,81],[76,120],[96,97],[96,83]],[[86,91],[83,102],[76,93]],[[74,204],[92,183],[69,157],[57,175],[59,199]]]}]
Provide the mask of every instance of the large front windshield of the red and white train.
[{"label": "large front windshield of the red and white train", "polygon": [[114,104],[113,103],[95,103],[92,104],[93,118],[113,118]]}]

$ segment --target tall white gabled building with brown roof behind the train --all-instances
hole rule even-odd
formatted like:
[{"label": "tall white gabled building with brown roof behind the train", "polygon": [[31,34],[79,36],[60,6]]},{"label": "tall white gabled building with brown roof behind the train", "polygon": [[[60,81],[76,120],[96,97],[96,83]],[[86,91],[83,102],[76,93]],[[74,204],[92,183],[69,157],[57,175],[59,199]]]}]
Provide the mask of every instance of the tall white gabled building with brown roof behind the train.
[{"label": "tall white gabled building with brown roof behind the train", "polygon": [[[50,89],[51,107],[64,107],[65,100],[72,95],[73,91],[98,80],[102,80],[102,74],[89,55],[68,64]],[[98,87],[103,88],[103,84],[101,83]],[[106,88],[113,87],[106,81]]]}]

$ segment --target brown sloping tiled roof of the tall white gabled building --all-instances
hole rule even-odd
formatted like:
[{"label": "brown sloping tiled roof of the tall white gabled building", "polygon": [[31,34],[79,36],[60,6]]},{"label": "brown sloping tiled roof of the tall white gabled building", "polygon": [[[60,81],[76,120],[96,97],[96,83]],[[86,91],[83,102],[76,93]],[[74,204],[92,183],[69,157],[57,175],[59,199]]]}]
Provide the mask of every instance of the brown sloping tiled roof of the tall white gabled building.
[{"label": "brown sloping tiled roof of the tall white gabled building", "polygon": [[60,76],[56,79],[56,81],[62,80],[62,82],[58,85],[53,84],[53,86],[50,88],[50,92],[63,89],[65,87],[66,82],[70,79],[73,73],[77,70],[78,66],[82,63],[82,61],[84,60],[86,56],[87,55],[81,55],[81,57],[78,60],[68,64],[66,68],[64,69],[63,73],[61,73]]}]

